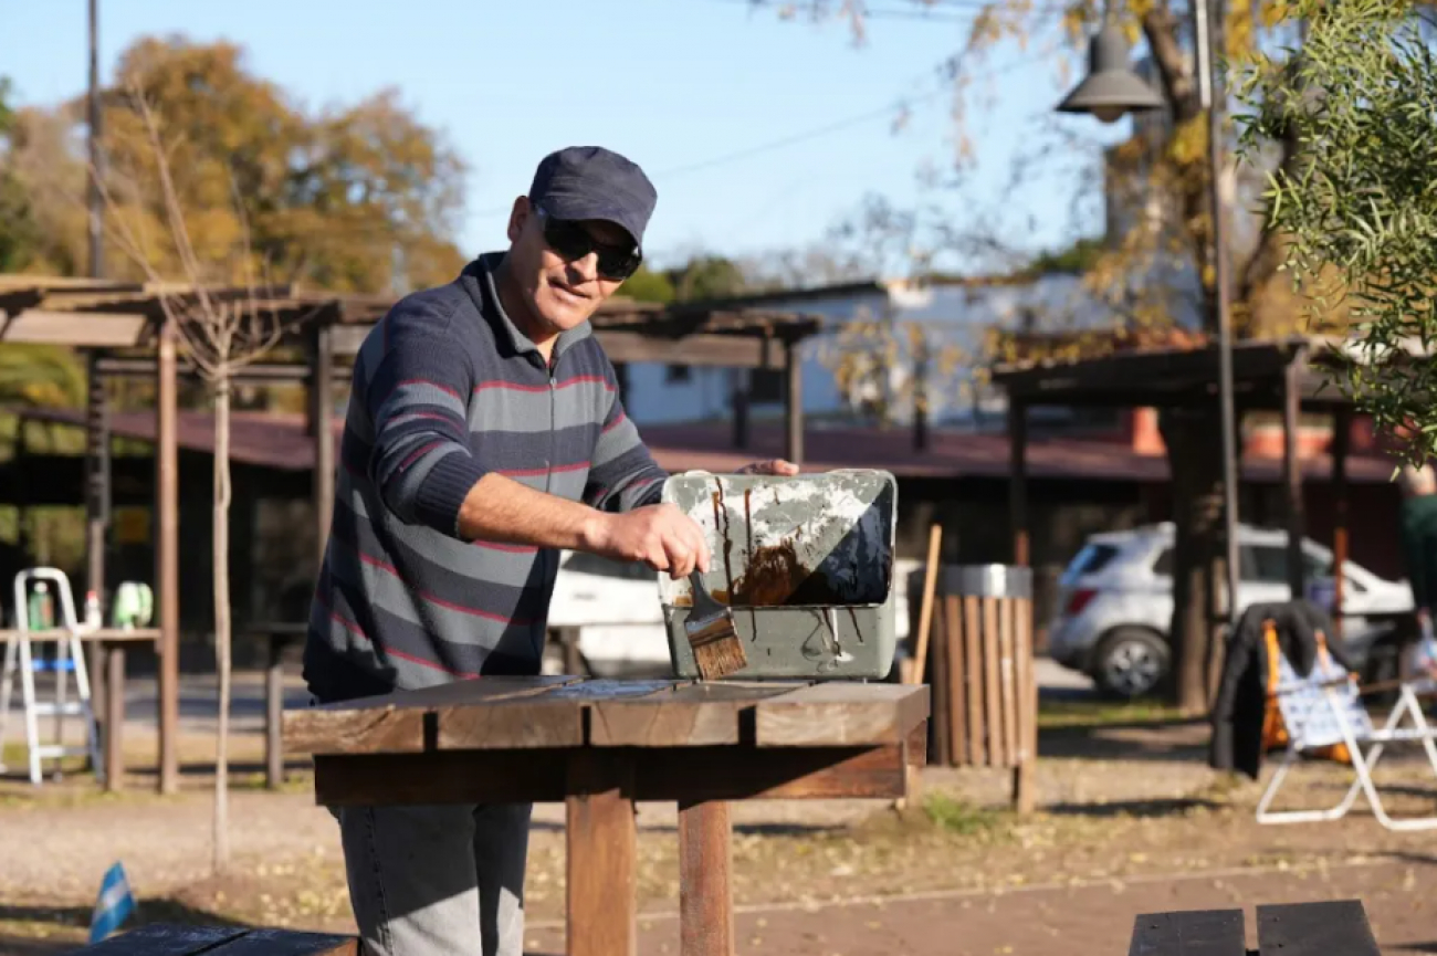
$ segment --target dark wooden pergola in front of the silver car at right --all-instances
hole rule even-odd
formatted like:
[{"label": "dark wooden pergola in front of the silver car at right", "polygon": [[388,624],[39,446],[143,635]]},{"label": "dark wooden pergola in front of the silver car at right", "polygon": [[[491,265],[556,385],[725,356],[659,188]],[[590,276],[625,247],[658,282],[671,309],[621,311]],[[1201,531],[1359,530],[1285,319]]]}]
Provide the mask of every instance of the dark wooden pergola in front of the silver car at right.
[{"label": "dark wooden pergola in front of the silver car at right", "polygon": [[[1293,336],[1277,341],[1240,342],[1233,346],[1233,392],[1236,413],[1280,411],[1283,431],[1283,497],[1286,502],[1288,578],[1295,595],[1305,594],[1300,542],[1305,533],[1302,469],[1298,461],[1298,417],[1318,411],[1334,417],[1332,486],[1334,566],[1348,559],[1346,459],[1352,404],[1332,382],[1326,365],[1341,348],[1339,341]],[[1118,351],[1086,359],[1029,359],[994,367],[992,381],[1007,394],[1012,479],[1009,510],[1012,558],[1029,564],[1027,529],[1027,411],[1033,407],[1180,408],[1217,407],[1219,354],[1203,348],[1160,348]],[[1239,456],[1242,450],[1239,449]],[[1342,607],[1342,575],[1334,575],[1335,607]],[[1341,628],[1341,615],[1335,615]]]}]

